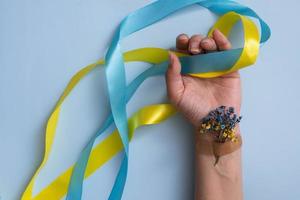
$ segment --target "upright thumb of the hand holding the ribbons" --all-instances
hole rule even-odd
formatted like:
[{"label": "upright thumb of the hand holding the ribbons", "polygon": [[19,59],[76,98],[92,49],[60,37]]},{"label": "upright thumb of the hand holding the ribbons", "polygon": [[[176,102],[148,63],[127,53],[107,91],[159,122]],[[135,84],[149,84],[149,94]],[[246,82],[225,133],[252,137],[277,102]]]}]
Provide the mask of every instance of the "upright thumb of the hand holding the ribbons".
[{"label": "upright thumb of the hand holding the ribbons", "polygon": [[176,54],[172,52],[169,52],[169,62],[166,72],[167,92],[170,101],[177,105],[184,91],[184,84],[180,74],[181,64]]}]

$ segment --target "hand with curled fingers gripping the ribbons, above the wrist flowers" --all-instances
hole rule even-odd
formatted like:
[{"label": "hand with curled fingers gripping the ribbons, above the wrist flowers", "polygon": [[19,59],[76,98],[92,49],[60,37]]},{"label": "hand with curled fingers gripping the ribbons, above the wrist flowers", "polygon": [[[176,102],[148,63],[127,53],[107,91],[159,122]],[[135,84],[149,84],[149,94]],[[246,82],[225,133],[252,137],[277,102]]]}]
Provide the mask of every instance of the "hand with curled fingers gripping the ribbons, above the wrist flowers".
[{"label": "hand with curled fingers gripping the ribbons, above the wrist flowers", "polygon": [[[229,40],[219,30],[214,30],[212,38],[201,35],[189,38],[181,34],[176,39],[178,51],[194,55],[230,48]],[[221,105],[232,106],[240,113],[241,80],[238,72],[206,79],[181,75],[178,57],[170,52],[169,59],[170,65],[166,72],[168,97],[195,127],[211,110]]]}]

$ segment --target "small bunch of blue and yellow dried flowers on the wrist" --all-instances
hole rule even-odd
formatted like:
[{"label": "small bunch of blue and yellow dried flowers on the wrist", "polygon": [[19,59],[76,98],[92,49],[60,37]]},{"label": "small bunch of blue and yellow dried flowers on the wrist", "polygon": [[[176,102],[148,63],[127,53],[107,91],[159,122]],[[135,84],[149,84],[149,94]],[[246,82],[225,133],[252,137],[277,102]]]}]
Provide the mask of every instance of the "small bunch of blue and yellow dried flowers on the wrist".
[{"label": "small bunch of blue and yellow dried flowers on the wrist", "polygon": [[211,111],[203,118],[200,125],[200,133],[210,133],[214,136],[215,141],[224,143],[226,141],[237,141],[234,128],[241,121],[242,117],[234,113],[234,108],[220,106]]}]

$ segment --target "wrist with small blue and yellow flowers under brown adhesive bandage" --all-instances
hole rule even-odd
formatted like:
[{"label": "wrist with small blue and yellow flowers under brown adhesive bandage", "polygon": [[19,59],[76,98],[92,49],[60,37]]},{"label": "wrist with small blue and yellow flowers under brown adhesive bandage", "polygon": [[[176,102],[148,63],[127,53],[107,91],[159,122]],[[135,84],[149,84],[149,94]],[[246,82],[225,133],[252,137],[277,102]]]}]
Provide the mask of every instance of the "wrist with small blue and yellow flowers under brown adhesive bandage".
[{"label": "wrist with small blue and yellow flowers under brown adhesive bandage", "polygon": [[196,128],[196,151],[214,155],[216,165],[219,157],[238,150],[242,144],[240,120],[233,107],[220,106],[209,112]]}]

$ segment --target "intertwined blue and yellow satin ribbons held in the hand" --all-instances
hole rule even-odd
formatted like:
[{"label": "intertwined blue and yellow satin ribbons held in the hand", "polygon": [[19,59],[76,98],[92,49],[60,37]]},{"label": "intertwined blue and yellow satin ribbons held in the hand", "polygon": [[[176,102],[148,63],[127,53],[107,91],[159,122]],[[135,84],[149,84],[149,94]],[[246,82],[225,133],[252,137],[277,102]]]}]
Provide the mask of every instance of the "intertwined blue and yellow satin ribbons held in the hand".
[{"label": "intertwined blue and yellow satin ribbons held in the hand", "polygon": [[[168,66],[168,51],[160,48],[141,48],[123,54],[120,50],[119,41],[127,35],[192,4],[199,4],[218,15],[222,15],[211,28],[208,36],[210,36],[212,31],[216,28],[228,36],[236,22],[241,21],[244,31],[244,44],[242,48],[195,56],[176,53],[180,57],[183,74],[190,74],[201,78],[211,78],[239,70],[243,67],[252,65],[256,61],[259,45],[268,40],[270,37],[270,29],[253,10],[234,1],[159,0],[131,13],[122,21],[115,32],[110,48],[105,56],[105,60],[99,60],[77,72],[72,77],[57,102],[54,111],[47,122],[43,161],[25,189],[22,196],[23,200],[55,200],[61,199],[66,194],[66,199],[68,200],[79,200],[81,199],[83,180],[94,173],[108,160],[113,158],[117,153],[124,151],[124,158],[112,192],[109,196],[109,199],[111,200],[121,199],[127,177],[129,155],[128,143],[132,139],[135,129],[144,125],[161,123],[176,113],[176,110],[170,104],[149,105],[141,108],[127,120],[127,102],[144,80],[151,76],[163,75],[166,72]],[[153,15],[153,13],[157,14]],[[255,23],[247,16],[259,20],[261,27],[260,39],[259,31]],[[153,64],[153,66],[142,72],[126,86],[124,62],[132,61],[146,62]],[[104,65],[110,97],[111,114],[102,124],[99,131],[90,139],[75,165],[71,166],[37,195],[33,196],[32,190],[35,179],[46,164],[51,152],[60,109],[65,98],[67,98],[84,76],[97,66]],[[96,138],[113,123],[116,125],[117,129],[101,143],[93,147]]]}]

